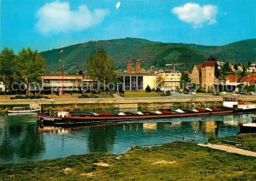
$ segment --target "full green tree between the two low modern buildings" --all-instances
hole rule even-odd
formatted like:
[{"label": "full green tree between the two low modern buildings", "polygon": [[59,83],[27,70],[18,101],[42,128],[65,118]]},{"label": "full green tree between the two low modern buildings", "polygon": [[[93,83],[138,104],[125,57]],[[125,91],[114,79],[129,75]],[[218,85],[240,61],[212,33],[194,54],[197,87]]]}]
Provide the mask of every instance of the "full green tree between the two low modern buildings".
[{"label": "full green tree between the two low modern buildings", "polygon": [[91,53],[87,59],[88,76],[101,84],[116,83],[117,74],[113,60],[103,50],[99,49]]}]

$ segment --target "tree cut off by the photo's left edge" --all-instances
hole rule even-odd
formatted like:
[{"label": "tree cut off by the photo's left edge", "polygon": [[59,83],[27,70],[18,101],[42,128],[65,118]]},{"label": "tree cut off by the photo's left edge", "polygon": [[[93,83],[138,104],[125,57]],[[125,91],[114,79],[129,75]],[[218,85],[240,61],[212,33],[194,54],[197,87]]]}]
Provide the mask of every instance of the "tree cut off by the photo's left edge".
[{"label": "tree cut off by the photo's left edge", "polygon": [[15,71],[15,57],[13,50],[9,50],[8,48],[5,48],[0,53],[0,78],[5,85],[5,95],[13,72]]}]

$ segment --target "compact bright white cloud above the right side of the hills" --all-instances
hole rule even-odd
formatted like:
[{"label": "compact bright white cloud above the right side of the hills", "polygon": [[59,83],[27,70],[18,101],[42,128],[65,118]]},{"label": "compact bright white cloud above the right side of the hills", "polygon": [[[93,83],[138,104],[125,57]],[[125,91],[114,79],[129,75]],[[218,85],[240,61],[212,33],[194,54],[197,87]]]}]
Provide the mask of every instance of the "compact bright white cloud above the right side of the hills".
[{"label": "compact bright white cloud above the right side of the hills", "polygon": [[208,25],[217,22],[216,15],[218,13],[218,7],[214,5],[200,6],[198,4],[187,3],[182,7],[173,8],[172,13],[176,14],[180,20],[193,24],[194,28],[201,28],[204,22],[207,22]]}]

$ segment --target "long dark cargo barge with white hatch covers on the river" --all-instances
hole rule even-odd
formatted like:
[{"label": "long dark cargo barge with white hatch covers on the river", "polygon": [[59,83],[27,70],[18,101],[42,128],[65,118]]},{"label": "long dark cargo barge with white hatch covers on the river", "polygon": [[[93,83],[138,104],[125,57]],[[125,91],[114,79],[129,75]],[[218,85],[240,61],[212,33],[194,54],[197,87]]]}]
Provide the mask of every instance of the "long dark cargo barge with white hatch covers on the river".
[{"label": "long dark cargo barge with white hatch covers on the river", "polygon": [[68,112],[56,111],[54,115],[38,114],[37,122],[41,125],[80,126],[120,121],[164,119],[179,117],[197,117],[229,114],[248,114],[256,112],[256,104],[238,102],[237,98],[224,98],[223,107],[194,108],[193,110],[160,109],[159,111],[135,112]]}]

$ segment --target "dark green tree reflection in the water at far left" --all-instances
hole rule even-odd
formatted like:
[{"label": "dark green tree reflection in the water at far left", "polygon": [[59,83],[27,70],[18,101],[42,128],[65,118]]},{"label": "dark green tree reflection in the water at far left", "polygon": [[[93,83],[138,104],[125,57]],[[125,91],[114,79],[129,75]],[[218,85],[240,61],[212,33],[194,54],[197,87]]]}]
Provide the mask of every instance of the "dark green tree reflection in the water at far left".
[{"label": "dark green tree reflection in the water at far left", "polygon": [[[34,117],[22,116],[18,121],[16,119],[0,116],[0,161],[34,159],[45,151],[44,137],[38,133]],[[33,120],[32,124],[30,119]]]}]

